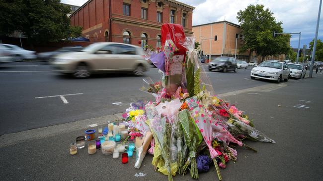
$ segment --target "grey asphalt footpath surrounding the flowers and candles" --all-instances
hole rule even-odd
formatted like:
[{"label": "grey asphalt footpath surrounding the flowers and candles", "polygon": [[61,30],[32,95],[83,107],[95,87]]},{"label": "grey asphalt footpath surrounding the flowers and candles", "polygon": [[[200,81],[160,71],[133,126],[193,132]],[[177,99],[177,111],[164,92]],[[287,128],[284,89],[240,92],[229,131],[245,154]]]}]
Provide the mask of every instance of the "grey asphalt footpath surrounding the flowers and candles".
[{"label": "grey asphalt footpath surrounding the flowers and candles", "polygon": [[[315,72],[314,72],[315,73]],[[244,141],[258,153],[238,147],[238,160],[221,169],[224,181],[320,181],[323,177],[323,75],[290,80],[277,89],[248,89],[223,98],[237,103],[255,128],[276,143]],[[3,181],[167,181],[154,171],[152,155],[146,155],[140,169],[135,157],[121,163],[121,155],[87,154],[87,146],[70,155],[69,146],[84,131],[121,114],[28,130],[0,136],[0,178]],[[217,181],[214,166],[199,174],[201,181]],[[143,177],[135,177],[142,172]],[[189,174],[174,181],[191,181]]]}]

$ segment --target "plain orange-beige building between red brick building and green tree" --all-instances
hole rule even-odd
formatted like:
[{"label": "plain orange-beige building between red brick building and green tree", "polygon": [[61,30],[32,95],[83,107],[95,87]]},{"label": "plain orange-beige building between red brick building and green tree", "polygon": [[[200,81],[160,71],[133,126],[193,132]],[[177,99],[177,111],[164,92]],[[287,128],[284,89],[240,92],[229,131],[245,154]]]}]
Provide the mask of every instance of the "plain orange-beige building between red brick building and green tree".
[{"label": "plain orange-beige building between red brick building and green tree", "polygon": [[[240,25],[229,21],[219,21],[192,26],[192,31],[196,41],[201,44],[203,54],[207,59],[209,57],[214,59],[218,56],[235,57],[236,53],[238,59],[247,59],[249,55],[249,52],[239,53],[239,48],[242,45]],[[215,36],[217,37],[216,41]]]}]

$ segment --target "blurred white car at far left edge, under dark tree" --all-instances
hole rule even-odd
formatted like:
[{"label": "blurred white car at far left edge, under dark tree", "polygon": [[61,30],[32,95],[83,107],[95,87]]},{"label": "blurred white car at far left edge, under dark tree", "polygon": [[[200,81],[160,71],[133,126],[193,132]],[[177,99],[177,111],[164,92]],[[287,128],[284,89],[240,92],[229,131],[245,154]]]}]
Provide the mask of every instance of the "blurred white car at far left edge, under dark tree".
[{"label": "blurred white car at far left edge, under dark tree", "polygon": [[0,44],[7,48],[7,51],[14,57],[14,60],[22,60],[22,59],[35,59],[36,52],[23,49],[16,45],[9,45],[9,44]]}]

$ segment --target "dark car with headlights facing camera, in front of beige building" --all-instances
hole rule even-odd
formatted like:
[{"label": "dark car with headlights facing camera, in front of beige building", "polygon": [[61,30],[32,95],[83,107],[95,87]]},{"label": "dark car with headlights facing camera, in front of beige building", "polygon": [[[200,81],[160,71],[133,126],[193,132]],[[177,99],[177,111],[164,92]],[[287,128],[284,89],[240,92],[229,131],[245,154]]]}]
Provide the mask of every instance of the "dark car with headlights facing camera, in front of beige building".
[{"label": "dark car with headlights facing camera, in front of beige building", "polygon": [[228,70],[238,71],[237,59],[228,56],[220,56],[209,63],[209,71],[218,70],[227,72]]}]

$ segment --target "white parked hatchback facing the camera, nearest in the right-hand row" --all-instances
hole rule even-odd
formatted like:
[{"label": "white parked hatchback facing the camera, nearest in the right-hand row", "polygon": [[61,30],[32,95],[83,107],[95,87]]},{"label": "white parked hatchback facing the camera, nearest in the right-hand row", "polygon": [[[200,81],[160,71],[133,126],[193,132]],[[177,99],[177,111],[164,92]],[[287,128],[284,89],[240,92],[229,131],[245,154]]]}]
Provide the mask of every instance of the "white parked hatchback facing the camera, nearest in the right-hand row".
[{"label": "white parked hatchback facing the camera, nearest in the right-hand row", "polygon": [[277,61],[264,61],[252,68],[251,79],[267,79],[280,83],[282,79],[288,81],[290,69],[287,63]]}]

